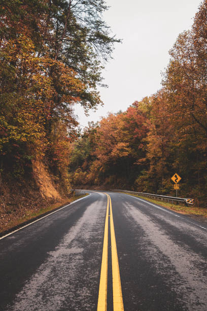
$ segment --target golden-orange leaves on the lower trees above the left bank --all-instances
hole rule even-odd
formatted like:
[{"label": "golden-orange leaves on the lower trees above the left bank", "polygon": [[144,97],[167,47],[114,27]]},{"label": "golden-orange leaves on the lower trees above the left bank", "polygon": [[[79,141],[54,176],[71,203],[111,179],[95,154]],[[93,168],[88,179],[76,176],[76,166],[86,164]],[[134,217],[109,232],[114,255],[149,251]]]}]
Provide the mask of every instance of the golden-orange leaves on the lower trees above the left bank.
[{"label": "golden-orange leaves on the lower trees above the left bank", "polygon": [[[53,160],[57,159],[58,169],[66,174],[71,152],[68,145],[74,139],[74,134],[69,139],[67,132],[77,125],[72,106],[80,100],[77,94],[85,85],[60,61],[47,54],[38,57],[32,40],[25,35],[5,41],[0,56],[2,154],[9,152],[10,146],[20,145],[22,153],[42,158],[52,146]],[[55,137],[57,133],[51,136],[53,122],[63,122],[61,140]]]}]

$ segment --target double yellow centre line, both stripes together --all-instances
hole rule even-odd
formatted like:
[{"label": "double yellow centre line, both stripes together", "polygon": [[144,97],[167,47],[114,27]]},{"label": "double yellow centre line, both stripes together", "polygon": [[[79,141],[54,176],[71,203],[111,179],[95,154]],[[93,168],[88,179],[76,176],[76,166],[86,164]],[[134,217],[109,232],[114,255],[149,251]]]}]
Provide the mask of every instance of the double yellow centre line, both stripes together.
[{"label": "double yellow centre line, both stripes together", "polygon": [[108,194],[107,214],[105,221],[105,231],[103,237],[103,252],[100,270],[100,284],[98,292],[97,311],[107,311],[107,275],[108,275],[108,235],[109,235],[109,206],[110,206],[110,231],[111,231],[111,246],[112,246],[112,280],[113,280],[113,305],[114,311],[123,311],[123,299],[121,292],[121,280],[119,273],[119,262],[117,256],[116,238],[114,231],[114,221],[112,213],[112,201]]}]

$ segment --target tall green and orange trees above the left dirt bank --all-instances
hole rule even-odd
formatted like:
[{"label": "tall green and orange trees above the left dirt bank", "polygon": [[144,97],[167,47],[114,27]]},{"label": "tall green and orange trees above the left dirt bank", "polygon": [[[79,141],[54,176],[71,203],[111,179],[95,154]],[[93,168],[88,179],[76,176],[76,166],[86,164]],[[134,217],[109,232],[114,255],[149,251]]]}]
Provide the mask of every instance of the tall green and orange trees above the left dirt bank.
[{"label": "tall green and orange trees above the left dirt bank", "polygon": [[74,104],[87,111],[101,103],[100,57],[107,61],[119,41],[102,20],[106,9],[102,0],[2,1],[1,161],[5,155],[53,161],[62,129],[66,149],[76,137]]}]

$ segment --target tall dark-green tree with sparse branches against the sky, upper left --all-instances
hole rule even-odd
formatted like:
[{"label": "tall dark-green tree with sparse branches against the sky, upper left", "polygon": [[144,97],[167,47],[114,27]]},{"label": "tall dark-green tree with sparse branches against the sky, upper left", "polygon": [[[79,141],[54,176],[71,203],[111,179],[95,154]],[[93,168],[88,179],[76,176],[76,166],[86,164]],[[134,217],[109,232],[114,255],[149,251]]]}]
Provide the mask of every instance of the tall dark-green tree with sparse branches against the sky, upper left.
[{"label": "tall dark-green tree with sparse branches against the sky, upper left", "polygon": [[101,103],[96,84],[101,83],[102,65],[111,57],[114,43],[120,42],[110,37],[110,28],[102,20],[101,14],[107,9],[103,0],[48,3],[43,39],[49,46],[50,57],[72,68],[86,85],[78,94],[86,111]]}]

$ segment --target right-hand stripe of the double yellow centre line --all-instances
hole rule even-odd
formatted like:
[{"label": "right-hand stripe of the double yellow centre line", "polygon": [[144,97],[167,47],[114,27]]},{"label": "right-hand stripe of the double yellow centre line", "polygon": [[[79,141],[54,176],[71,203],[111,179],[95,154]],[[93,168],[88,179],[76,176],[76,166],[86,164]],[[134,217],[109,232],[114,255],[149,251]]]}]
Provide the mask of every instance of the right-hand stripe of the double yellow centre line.
[{"label": "right-hand stripe of the double yellow centre line", "polygon": [[110,228],[111,228],[111,244],[112,244],[112,278],[113,278],[114,311],[124,311],[122,291],[121,291],[121,279],[119,273],[119,261],[117,256],[116,237],[112,213],[112,201],[109,195],[108,198],[110,199]]}]

